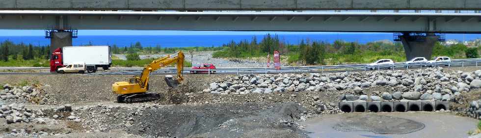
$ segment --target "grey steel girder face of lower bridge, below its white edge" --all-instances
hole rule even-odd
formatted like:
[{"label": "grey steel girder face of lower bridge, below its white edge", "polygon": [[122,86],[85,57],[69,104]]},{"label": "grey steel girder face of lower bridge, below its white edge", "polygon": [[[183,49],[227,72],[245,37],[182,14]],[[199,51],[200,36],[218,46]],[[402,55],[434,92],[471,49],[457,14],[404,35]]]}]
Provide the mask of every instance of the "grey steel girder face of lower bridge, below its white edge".
[{"label": "grey steel girder face of lower bridge, below its white edge", "polygon": [[480,17],[0,15],[0,29],[480,33]]}]

